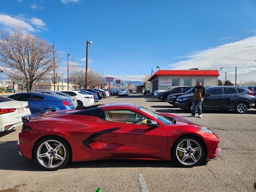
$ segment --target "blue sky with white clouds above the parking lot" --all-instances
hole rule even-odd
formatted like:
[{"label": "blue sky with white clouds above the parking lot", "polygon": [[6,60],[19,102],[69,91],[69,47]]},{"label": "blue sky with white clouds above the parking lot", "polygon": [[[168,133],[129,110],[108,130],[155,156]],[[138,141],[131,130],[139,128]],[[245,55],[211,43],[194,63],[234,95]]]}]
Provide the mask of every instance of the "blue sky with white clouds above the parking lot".
[{"label": "blue sky with white clouds above the parking lot", "polygon": [[17,23],[54,40],[64,73],[67,53],[85,65],[91,40],[89,67],[106,76],[142,80],[156,66],[224,66],[232,80],[238,66],[241,80],[254,80],[255,10],[255,0],[1,0],[0,28]]}]

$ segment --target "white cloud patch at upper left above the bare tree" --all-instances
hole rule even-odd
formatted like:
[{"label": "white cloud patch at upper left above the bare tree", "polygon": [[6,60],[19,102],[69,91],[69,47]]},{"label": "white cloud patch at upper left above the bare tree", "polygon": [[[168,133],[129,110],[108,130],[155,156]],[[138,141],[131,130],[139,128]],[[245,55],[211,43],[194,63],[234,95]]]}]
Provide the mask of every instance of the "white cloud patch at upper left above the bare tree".
[{"label": "white cloud patch at upper left above the bare tree", "polygon": [[0,27],[5,30],[12,30],[12,28],[16,26],[21,26],[28,32],[40,32],[42,30],[47,31],[46,24],[39,18],[25,18],[22,14],[19,14],[18,16],[10,16],[0,13]]}]

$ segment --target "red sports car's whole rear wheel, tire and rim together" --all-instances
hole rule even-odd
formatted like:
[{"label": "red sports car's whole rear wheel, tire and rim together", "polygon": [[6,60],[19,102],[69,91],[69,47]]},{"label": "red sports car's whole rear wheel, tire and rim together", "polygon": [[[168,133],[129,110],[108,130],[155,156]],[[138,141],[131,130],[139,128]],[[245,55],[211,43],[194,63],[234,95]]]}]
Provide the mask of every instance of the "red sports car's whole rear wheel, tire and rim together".
[{"label": "red sports car's whole rear wheel, tire and rim together", "polygon": [[48,137],[40,140],[34,147],[34,160],[45,170],[63,168],[70,159],[70,149],[65,140]]}]

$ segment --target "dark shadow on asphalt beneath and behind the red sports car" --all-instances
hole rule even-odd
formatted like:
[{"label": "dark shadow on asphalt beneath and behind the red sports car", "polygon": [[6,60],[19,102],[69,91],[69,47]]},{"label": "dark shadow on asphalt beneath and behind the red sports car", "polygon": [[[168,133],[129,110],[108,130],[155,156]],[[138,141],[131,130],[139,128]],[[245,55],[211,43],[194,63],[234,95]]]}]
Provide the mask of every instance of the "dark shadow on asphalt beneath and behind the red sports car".
[{"label": "dark shadow on asphalt beneath and behind the red sports car", "polygon": [[[33,160],[19,155],[17,141],[0,142],[0,170],[44,171]],[[160,160],[95,160],[69,163],[64,168],[108,167],[178,167],[174,162]]]}]

